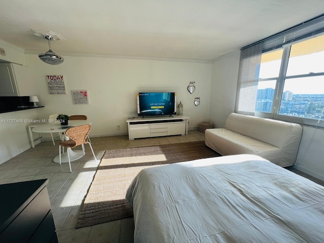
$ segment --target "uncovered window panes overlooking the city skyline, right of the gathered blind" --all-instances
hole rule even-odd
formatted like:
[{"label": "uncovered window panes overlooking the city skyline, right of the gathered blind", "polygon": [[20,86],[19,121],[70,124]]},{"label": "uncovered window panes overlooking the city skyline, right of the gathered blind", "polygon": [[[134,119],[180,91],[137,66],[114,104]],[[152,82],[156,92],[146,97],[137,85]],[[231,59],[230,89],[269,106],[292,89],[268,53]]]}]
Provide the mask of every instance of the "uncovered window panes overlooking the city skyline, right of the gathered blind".
[{"label": "uncovered window panes overlooking the city skyline, right of the gathered blind", "polygon": [[[285,49],[287,57],[282,56]],[[312,121],[305,119],[324,120],[323,63],[324,35],[262,54],[255,111],[273,113],[280,119],[285,119],[280,115],[289,116],[286,120],[291,121],[298,117],[299,123],[308,125]],[[279,73],[285,66],[286,73]]]}]

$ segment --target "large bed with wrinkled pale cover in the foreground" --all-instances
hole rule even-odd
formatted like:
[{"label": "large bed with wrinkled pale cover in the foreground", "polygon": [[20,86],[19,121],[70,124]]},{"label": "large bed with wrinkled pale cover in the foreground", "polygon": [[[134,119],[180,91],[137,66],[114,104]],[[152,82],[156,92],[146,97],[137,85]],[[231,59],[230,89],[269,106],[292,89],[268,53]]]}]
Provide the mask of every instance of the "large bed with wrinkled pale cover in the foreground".
[{"label": "large bed with wrinkled pale cover in the foreground", "polygon": [[134,242],[323,242],[324,187],[257,155],[142,170]]}]

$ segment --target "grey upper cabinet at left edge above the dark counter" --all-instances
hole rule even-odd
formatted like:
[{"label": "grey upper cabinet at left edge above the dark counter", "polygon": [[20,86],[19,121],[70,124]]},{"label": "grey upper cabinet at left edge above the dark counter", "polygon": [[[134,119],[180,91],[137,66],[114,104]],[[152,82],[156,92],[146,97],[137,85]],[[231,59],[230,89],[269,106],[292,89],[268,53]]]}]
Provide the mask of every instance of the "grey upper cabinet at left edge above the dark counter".
[{"label": "grey upper cabinet at left edge above the dark counter", "polygon": [[12,63],[0,63],[0,96],[19,96]]}]

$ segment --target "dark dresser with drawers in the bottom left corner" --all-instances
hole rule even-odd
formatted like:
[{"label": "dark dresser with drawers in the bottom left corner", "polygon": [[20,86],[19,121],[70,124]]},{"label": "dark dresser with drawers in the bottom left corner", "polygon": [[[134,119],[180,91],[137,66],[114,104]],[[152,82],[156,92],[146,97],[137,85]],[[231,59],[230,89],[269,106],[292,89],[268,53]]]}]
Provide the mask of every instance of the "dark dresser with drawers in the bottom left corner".
[{"label": "dark dresser with drawers in the bottom left corner", "polygon": [[48,179],[0,185],[0,242],[58,242]]}]

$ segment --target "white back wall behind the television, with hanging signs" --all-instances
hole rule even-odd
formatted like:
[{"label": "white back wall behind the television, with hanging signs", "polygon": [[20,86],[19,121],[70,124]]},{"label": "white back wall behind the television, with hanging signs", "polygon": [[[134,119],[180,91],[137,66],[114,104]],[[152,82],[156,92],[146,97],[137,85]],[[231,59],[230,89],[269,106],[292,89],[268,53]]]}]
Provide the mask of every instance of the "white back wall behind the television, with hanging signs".
[{"label": "white back wall behind the television, with hanging signs", "polygon": [[[37,55],[26,55],[28,83],[33,85],[39,104],[38,118],[50,114],[85,114],[92,121],[91,136],[114,136],[128,133],[126,118],[137,116],[136,93],[141,91],[177,92],[177,103],[184,105],[190,117],[189,128],[208,119],[212,64],[192,61],[166,61],[127,58],[64,56],[64,63],[49,65]],[[66,94],[49,94],[46,75],[64,76]],[[193,94],[187,91],[195,81]],[[72,90],[87,90],[89,104],[74,105]],[[206,94],[207,93],[207,94]],[[194,105],[200,97],[200,105]],[[120,126],[120,130],[117,130]]]}]

